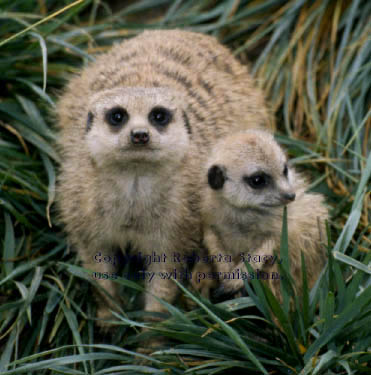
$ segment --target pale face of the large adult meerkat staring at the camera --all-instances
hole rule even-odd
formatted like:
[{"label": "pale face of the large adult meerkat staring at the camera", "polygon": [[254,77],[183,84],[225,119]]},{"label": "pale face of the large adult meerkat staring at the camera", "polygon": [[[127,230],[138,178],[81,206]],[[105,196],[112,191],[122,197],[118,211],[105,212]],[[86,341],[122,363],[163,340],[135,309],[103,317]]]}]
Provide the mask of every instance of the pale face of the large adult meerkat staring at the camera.
[{"label": "pale face of the large adult meerkat staring at the camera", "polygon": [[92,97],[88,151],[98,167],[180,163],[191,128],[180,95],[166,88],[117,88]]}]

